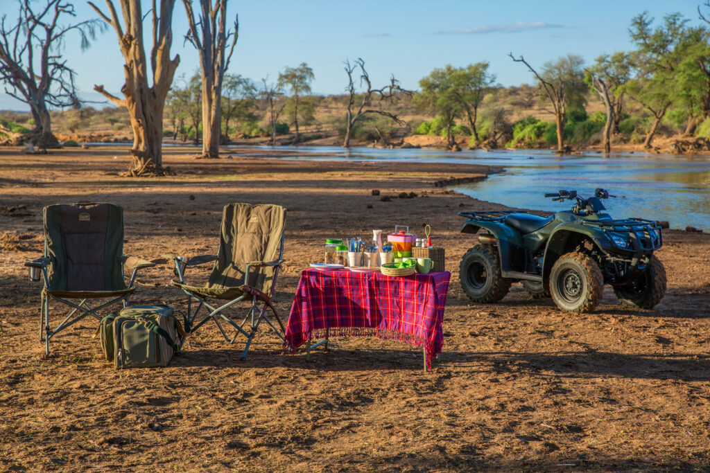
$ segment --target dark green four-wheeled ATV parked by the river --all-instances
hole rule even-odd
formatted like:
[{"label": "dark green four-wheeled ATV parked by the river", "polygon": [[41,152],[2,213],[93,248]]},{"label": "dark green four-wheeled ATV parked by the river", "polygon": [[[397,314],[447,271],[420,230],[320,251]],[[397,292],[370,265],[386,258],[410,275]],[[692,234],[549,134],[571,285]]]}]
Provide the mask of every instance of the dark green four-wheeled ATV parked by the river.
[{"label": "dark green four-wheeled ATV parked by the river", "polygon": [[[563,311],[590,312],[604,284],[622,304],[652,308],[666,291],[665,269],[653,254],[663,244],[661,228],[642,218],[613,220],[596,189],[545,194],[574,201],[571,211],[540,216],[530,212],[459,212],[462,233],[478,243],[461,259],[461,287],[474,302],[491,303],[520,281],[533,298],[549,297]],[[611,196],[613,197],[613,196]]]}]

